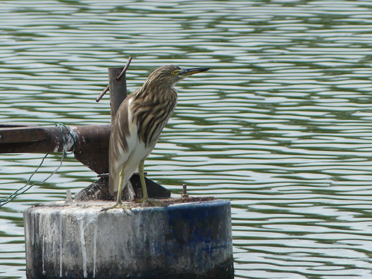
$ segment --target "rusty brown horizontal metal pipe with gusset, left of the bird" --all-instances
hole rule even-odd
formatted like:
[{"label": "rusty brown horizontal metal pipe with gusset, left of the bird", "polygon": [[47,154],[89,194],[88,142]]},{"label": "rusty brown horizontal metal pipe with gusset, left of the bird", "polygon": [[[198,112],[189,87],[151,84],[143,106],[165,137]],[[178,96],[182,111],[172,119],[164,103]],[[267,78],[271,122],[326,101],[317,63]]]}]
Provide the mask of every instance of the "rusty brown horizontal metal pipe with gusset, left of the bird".
[{"label": "rusty brown horizontal metal pipe with gusset, left of the bird", "polygon": [[[111,124],[67,126],[76,141],[75,158],[98,174],[108,173]],[[0,124],[0,153],[47,153],[72,151],[74,141],[67,129],[39,125]]]}]

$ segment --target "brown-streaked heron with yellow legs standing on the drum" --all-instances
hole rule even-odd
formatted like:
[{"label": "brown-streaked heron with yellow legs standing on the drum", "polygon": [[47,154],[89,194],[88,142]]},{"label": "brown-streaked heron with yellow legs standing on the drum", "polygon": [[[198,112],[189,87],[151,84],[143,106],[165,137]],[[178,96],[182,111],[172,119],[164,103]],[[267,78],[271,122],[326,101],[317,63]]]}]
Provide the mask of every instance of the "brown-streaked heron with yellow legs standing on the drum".
[{"label": "brown-streaked heron with yellow legs standing on the drum", "polygon": [[122,204],[122,189],[136,170],[142,186],[142,198],[136,202],[166,206],[148,197],[144,161],[153,151],[161,131],[176,108],[178,92],[174,86],[192,74],[210,69],[161,66],[148,76],[140,89],[124,99],[113,119],[109,142],[109,191],[112,196],[117,193],[116,203],[101,211],[113,208],[126,211]]}]

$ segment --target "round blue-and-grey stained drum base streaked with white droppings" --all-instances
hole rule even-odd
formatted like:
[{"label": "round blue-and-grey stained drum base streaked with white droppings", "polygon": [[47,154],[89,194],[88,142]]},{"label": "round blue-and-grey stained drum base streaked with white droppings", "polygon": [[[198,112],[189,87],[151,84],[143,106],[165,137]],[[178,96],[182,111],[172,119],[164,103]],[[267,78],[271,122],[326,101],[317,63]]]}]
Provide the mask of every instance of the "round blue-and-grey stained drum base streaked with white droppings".
[{"label": "round blue-and-grey stained drum base streaked with white droppings", "polygon": [[131,215],[100,212],[108,204],[26,209],[27,278],[233,278],[229,201],[137,207]]}]

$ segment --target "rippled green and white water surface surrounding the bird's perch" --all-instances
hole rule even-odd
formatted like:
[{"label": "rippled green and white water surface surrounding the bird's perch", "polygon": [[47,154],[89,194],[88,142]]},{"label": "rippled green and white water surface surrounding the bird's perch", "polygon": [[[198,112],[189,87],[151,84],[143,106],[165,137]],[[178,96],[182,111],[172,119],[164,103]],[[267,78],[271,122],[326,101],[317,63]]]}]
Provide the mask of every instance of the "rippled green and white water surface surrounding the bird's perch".
[{"label": "rippled green and white water surface surrounding the bird's perch", "polygon": [[[0,122],[108,123],[108,96],[95,99],[129,55],[131,91],[163,64],[211,67],[178,84],[148,177],[231,201],[236,278],[372,278],[372,2],[0,6]],[[43,156],[1,154],[0,197]],[[25,278],[22,211],[95,179],[70,155],[0,209],[0,278]]]}]

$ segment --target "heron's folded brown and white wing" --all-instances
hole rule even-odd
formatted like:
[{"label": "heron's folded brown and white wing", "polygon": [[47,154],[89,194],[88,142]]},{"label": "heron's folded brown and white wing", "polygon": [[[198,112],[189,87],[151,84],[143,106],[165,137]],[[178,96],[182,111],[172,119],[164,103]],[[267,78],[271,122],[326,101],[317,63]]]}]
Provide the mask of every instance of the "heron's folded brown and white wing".
[{"label": "heron's folded brown and white wing", "polygon": [[[111,195],[118,191],[120,171],[137,143],[137,125],[132,122],[130,109],[135,97],[134,93],[121,103],[112,123],[109,145],[109,190]],[[126,181],[124,183],[126,184]]]}]

